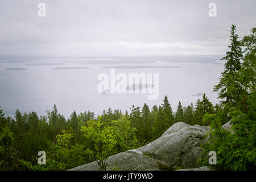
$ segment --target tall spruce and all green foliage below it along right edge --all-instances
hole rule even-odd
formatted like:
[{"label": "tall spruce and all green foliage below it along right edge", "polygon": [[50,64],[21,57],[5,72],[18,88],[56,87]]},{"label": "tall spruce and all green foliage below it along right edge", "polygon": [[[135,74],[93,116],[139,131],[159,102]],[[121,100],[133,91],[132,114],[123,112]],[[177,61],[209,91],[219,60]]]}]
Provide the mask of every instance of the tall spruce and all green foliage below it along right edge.
[{"label": "tall spruce and all green foliage below it along right edge", "polygon": [[[227,52],[228,60],[225,71],[222,73],[220,84],[214,89],[220,90],[220,98],[226,99],[222,107],[215,107],[216,114],[205,114],[204,122],[210,124],[210,138],[204,147],[204,154],[211,150],[217,152],[217,165],[212,166],[218,170],[252,170],[256,169],[256,93],[255,93],[255,32],[245,36],[241,42],[234,38],[234,26],[232,26],[231,52]],[[241,49],[245,48],[243,63],[240,65]],[[222,129],[223,115],[231,118],[232,131],[230,133]],[[207,164],[206,160],[200,160]]]}]

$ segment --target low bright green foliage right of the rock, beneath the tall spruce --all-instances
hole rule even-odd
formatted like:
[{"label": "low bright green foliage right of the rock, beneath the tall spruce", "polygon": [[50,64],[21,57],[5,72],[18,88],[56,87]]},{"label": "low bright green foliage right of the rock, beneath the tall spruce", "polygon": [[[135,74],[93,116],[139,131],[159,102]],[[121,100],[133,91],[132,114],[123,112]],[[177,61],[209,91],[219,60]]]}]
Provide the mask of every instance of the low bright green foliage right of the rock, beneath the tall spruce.
[{"label": "low bright green foliage right of the rock, beneath the tall spruce", "polygon": [[[211,166],[217,170],[255,170],[256,140],[255,120],[246,117],[240,110],[231,109],[232,130],[230,133],[222,129],[220,117],[216,114],[205,114],[204,121],[210,122],[210,138],[203,144],[204,154],[209,151],[217,152],[217,165]],[[203,160],[202,164],[208,164]]]}]

